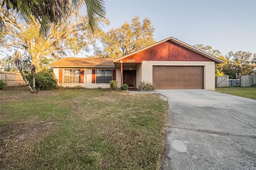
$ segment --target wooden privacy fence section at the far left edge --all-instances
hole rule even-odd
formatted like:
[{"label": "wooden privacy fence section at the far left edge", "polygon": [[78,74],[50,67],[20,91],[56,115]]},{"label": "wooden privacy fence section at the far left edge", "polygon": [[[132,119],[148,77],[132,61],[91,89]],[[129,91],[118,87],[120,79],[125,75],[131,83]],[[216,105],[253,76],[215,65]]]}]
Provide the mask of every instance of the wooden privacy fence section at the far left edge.
[{"label": "wooden privacy fence section at the far left edge", "polygon": [[26,86],[20,73],[11,73],[6,71],[0,71],[0,80],[7,82],[7,87],[20,87]]}]

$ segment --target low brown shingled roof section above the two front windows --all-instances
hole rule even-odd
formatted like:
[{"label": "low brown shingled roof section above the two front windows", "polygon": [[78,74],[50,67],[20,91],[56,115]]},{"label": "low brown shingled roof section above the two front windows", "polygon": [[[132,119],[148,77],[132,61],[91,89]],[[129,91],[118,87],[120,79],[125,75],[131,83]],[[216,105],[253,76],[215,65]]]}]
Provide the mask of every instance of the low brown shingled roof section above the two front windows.
[{"label": "low brown shingled roof section above the two front windows", "polygon": [[49,67],[115,67],[114,59],[107,58],[63,58],[48,64]]}]

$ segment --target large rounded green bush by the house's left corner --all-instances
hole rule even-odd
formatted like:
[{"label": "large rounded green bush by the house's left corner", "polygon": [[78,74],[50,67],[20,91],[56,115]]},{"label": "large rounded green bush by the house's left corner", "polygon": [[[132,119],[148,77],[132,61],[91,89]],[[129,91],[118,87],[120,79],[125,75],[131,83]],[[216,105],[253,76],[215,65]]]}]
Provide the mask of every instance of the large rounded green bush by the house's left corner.
[{"label": "large rounded green bush by the house's left corner", "polygon": [[[26,78],[30,86],[33,87],[32,74],[31,73],[28,74]],[[39,72],[39,73],[36,73],[35,85],[37,90],[51,90],[57,87],[58,81],[55,78],[54,73],[52,72]]]}]

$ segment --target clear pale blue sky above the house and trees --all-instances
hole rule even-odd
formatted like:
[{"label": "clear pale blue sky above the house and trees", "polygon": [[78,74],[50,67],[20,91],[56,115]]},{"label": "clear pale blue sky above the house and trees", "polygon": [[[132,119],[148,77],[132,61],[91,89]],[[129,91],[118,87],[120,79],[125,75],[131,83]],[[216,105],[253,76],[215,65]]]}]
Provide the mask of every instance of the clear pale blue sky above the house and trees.
[{"label": "clear pale blue sky above the house and trees", "polygon": [[178,38],[190,45],[204,44],[229,51],[256,53],[256,1],[107,0],[106,17],[117,28],[137,15],[156,29],[156,41]]}]

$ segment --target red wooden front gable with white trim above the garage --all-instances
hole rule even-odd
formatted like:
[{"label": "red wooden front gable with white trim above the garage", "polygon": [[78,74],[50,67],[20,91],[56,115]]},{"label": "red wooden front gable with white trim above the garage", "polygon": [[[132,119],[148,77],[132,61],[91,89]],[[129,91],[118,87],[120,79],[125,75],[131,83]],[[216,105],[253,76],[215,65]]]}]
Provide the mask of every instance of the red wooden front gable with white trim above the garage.
[{"label": "red wooden front gable with white trim above the garage", "polygon": [[124,55],[123,57],[115,59],[114,62],[119,62],[120,60],[124,62],[134,61],[136,63],[141,63],[142,61],[147,60],[214,61],[215,63],[224,63],[223,60],[172,37],[156,42],[128,55]]}]

